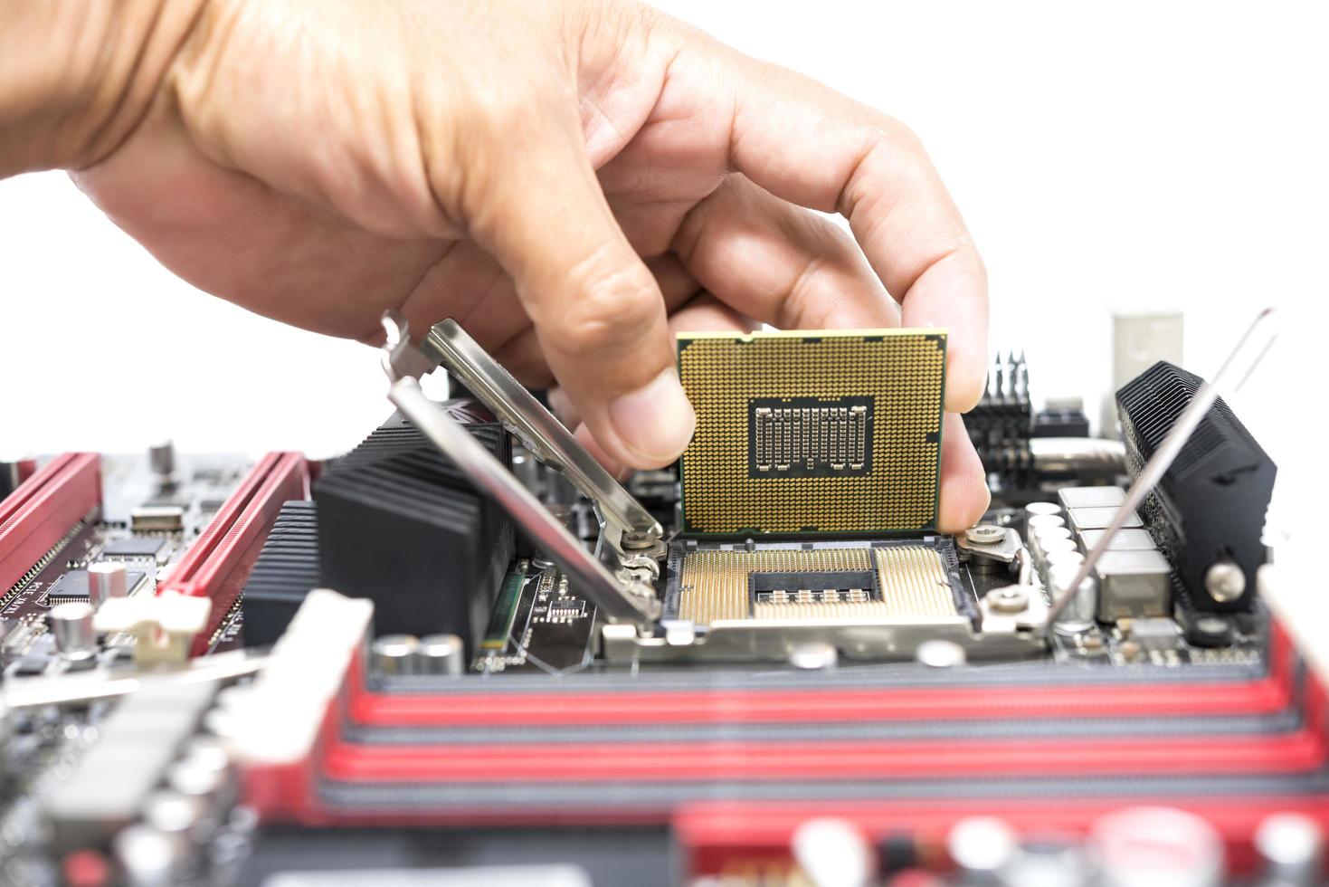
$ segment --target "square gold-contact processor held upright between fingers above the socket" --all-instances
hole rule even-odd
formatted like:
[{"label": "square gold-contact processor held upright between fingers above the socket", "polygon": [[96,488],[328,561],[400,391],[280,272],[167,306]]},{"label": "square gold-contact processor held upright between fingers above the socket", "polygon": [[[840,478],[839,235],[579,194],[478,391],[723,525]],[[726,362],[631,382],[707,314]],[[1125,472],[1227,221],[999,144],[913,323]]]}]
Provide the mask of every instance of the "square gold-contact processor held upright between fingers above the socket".
[{"label": "square gold-contact processor held upright between fingers above the socket", "polygon": [[683,334],[678,368],[696,410],[684,533],[936,528],[944,331]]}]

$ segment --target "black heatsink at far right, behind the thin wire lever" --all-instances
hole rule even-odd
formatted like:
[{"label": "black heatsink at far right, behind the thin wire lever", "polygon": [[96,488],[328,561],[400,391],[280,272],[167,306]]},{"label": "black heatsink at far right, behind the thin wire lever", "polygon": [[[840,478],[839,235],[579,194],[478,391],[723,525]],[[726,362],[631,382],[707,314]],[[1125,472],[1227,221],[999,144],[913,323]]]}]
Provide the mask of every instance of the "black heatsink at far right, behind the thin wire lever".
[{"label": "black heatsink at far right, behind the thin wire lever", "polygon": [[[1132,473],[1156,452],[1200,384],[1197,375],[1160,360],[1116,392]],[[1264,563],[1260,536],[1275,471],[1269,456],[1219,399],[1142,505],[1140,519],[1195,608],[1251,608],[1255,573]],[[1245,590],[1219,600],[1205,586],[1205,577],[1225,560],[1240,567]]]}]

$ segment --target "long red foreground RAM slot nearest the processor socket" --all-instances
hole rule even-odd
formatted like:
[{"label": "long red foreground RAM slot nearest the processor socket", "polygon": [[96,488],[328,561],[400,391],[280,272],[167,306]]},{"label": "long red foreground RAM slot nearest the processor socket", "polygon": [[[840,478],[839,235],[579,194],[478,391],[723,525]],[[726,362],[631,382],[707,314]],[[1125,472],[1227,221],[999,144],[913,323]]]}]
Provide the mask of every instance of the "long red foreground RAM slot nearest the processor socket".
[{"label": "long red foreground RAM slot nearest the processor socket", "polygon": [[746,722],[960,721],[1123,714],[1268,714],[1293,701],[1296,653],[1271,630],[1269,672],[1252,681],[1099,686],[882,688],[817,690],[627,690],[401,694],[373,693],[352,674],[350,714],[371,726],[625,725]]}]

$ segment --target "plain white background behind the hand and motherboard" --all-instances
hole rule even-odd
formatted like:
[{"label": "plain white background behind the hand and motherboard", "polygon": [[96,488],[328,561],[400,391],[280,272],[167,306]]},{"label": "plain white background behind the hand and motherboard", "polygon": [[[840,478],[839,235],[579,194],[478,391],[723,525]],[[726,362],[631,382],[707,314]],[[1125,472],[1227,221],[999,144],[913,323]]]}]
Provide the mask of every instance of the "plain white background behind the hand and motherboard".
[{"label": "plain white background behind the hand and motherboard", "polygon": [[[991,344],[1026,348],[1039,396],[1098,415],[1112,313],[1183,311],[1185,363],[1211,374],[1282,306],[1233,406],[1280,461],[1280,501],[1318,513],[1325,4],[659,5],[921,134],[987,262]],[[322,456],[385,415],[383,390],[369,350],[193,290],[62,174],[0,182],[0,455],[171,436]]]}]

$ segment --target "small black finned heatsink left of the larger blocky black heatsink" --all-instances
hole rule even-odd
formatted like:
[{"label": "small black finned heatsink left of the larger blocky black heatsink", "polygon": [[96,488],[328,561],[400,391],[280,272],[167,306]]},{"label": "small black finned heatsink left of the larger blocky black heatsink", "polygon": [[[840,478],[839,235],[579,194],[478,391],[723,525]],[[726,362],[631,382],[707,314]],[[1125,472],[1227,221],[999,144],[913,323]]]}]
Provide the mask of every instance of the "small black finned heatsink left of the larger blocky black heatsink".
[{"label": "small black finned heatsink left of the larger blocky black heatsink", "polygon": [[245,645],[275,644],[319,576],[314,503],[284,503],[245,585]]}]

